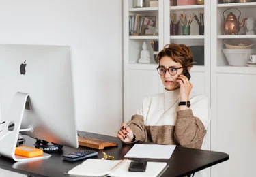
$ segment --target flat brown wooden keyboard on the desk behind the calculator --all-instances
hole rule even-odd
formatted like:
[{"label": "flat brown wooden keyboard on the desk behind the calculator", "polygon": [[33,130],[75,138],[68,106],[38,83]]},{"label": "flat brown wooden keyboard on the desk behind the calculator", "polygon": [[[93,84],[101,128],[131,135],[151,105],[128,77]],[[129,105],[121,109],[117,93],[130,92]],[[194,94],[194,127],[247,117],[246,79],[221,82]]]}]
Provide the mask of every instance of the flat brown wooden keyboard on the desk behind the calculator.
[{"label": "flat brown wooden keyboard on the desk behind the calculator", "polygon": [[96,138],[89,138],[85,136],[78,136],[78,139],[79,139],[80,146],[86,146],[89,148],[104,149],[105,147],[118,146],[118,144],[115,142],[109,142],[109,141],[100,140]]}]

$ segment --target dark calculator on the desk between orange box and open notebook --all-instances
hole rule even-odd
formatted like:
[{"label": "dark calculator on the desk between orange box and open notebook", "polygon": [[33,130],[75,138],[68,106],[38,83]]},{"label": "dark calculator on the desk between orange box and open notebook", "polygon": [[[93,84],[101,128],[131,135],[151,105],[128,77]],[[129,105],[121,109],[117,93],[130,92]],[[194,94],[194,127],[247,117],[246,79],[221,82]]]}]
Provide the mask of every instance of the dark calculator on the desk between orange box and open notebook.
[{"label": "dark calculator on the desk between orange box and open notebook", "polygon": [[98,155],[97,151],[85,149],[79,152],[72,152],[71,154],[63,155],[62,157],[66,161],[78,161],[95,155]]}]

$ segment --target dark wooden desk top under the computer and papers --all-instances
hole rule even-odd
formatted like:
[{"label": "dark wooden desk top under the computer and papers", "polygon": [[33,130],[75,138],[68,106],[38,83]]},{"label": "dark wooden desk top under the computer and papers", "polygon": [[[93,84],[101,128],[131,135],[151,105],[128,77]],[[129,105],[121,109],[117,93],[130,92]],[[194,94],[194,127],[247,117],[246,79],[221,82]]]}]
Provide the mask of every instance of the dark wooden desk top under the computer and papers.
[{"label": "dark wooden desk top under the computer and papers", "polygon": [[[87,133],[79,131],[80,135],[86,135],[91,138],[100,138],[102,140],[108,140],[111,142],[117,142],[118,147],[105,148],[104,150],[98,150],[97,159],[103,157],[102,151],[106,152],[108,155],[112,155],[115,159],[123,159],[124,155],[132,148],[134,144],[122,144],[122,142],[115,137],[99,135],[95,133]],[[33,146],[35,142],[34,139],[24,136],[26,139],[27,146]],[[83,150],[86,147],[79,146],[79,149],[63,147],[62,152],[53,153],[52,157],[48,159],[30,161],[30,162],[15,162],[12,159],[6,157],[0,157],[0,168],[5,170],[10,170],[12,172],[18,172],[20,174],[25,174],[27,176],[53,176],[61,177],[64,175],[64,172],[72,169],[76,165],[79,165],[82,161],[69,162],[63,161],[62,155],[68,154],[71,152],[76,152]],[[90,148],[89,148],[90,149]],[[208,150],[197,150],[191,148],[182,148],[176,146],[173,155],[170,159],[144,159],[146,161],[165,161],[169,164],[169,167],[162,176],[186,176],[194,172],[198,172],[206,167],[216,165],[223,161],[227,161],[229,155],[222,152],[212,152]],[[136,159],[132,159],[136,160]]]}]

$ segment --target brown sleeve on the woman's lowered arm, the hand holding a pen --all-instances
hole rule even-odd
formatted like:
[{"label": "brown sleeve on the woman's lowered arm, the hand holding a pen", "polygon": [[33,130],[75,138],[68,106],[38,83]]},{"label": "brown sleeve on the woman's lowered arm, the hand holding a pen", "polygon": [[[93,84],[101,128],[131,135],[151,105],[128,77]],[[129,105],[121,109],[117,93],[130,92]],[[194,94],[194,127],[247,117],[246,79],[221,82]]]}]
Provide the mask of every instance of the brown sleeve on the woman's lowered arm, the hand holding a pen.
[{"label": "brown sleeve on the woman's lowered arm, the hand holding a pen", "polygon": [[[145,123],[143,116],[140,115],[133,115],[132,123],[130,124],[130,129],[132,129],[133,134],[136,137],[136,141],[145,141],[147,139],[147,131],[145,129]],[[132,142],[130,142],[132,143]]]}]

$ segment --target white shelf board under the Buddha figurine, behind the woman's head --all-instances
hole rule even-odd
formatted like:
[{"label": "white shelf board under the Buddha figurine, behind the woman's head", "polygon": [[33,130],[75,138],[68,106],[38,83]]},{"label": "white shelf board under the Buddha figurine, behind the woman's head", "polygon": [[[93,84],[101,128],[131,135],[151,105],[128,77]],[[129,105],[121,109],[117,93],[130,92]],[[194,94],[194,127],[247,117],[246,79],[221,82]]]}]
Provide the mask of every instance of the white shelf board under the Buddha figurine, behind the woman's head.
[{"label": "white shelf board under the Buddha figurine, behind the woman's head", "polygon": [[[156,67],[158,67],[158,64],[156,63],[150,63],[150,64],[143,64],[143,63],[129,63],[128,69],[142,69],[142,70],[156,70]],[[205,67],[204,66],[197,66],[194,65],[191,68],[191,71],[193,72],[204,72]]]}]

